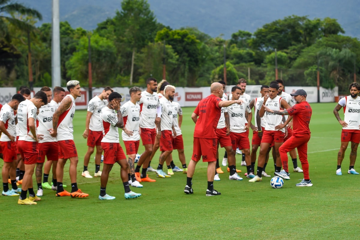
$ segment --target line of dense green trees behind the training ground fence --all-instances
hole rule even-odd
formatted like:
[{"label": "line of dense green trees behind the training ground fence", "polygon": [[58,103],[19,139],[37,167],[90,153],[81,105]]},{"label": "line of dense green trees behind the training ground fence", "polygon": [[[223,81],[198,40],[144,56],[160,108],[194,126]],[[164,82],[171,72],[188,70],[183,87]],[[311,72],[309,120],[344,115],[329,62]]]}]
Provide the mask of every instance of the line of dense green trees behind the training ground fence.
[{"label": "line of dense green trees behind the training ground fence", "polygon": [[[28,85],[30,47],[33,86],[50,86],[51,24],[35,27],[41,19],[35,9],[10,0],[0,5],[8,13],[0,16],[0,85]],[[89,38],[93,86],[142,86],[148,77],[162,78],[163,64],[176,86],[208,86],[224,78],[224,55],[228,84],[249,73],[249,84],[267,84],[275,80],[275,49],[285,85],[316,86],[319,70],[321,86],[345,93],[359,71],[360,42],[345,36],[336,19],[292,15],[225,40],[194,27],[164,26],[146,0],[123,0],[119,7],[93,31],[60,22],[63,83],[88,86]]]}]

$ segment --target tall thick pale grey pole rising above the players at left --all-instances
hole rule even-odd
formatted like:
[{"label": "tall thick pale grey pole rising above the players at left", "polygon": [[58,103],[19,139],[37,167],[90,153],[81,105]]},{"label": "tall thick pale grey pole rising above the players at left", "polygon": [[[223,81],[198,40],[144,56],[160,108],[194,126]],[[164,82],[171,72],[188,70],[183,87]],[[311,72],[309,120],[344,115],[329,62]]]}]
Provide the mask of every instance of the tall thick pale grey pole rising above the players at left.
[{"label": "tall thick pale grey pole rising above the players at left", "polygon": [[52,32],[51,85],[54,88],[55,86],[61,86],[59,0],[53,0]]}]

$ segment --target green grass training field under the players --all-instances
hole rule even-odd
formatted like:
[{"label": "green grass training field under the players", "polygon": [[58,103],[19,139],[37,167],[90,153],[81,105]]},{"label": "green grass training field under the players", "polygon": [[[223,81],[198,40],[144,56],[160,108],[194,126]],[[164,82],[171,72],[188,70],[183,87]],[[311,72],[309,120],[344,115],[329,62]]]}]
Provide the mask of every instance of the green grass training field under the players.
[{"label": "green grass training field under the players", "polygon": [[[112,201],[98,200],[99,178],[81,176],[87,150],[86,140],[81,136],[86,111],[78,110],[74,118],[79,154],[77,182],[90,196],[58,198],[55,192],[44,189],[42,200],[32,206],[18,205],[18,197],[1,196],[0,239],[357,239],[360,175],[347,174],[349,149],[342,164],[343,175],[335,175],[341,132],[332,113],[335,104],[311,106],[308,158],[312,187],[295,187],[303,175],[293,172],[282,189],[271,188],[270,178],[266,177],[262,182],[250,183],[243,175],[246,167],[240,167],[241,155],[237,155],[237,168],[243,171],[240,176],[244,180],[230,181],[226,168],[222,167],[225,173],[220,175],[221,181],[214,184],[221,196],[205,196],[207,164],[199,163],[193,177],[193,195],[183,192],[185,174],[175,173],[171,178],[162,179],[150,172],[149,176],[156,182],[145,182],[140,189],[132,187],[142,196],[125,200],[120,166],[114,166],[107,186],[107,193],[116,196]],[[183,108],[187,163],[192,154],[194,123],[190,115],[193,109]],[[121,144],[123,146],[122,141]],[[139,153],[142,152],[140,144]],[[224,149],[220,150],[222,154]],[[154,168],[158,156],[159,153],[151,164]],[[175,164],[181,166],[176,150],[173,156]],[[274,172],[272,161],[269,160],[266,171],[270,175]],[[300,166],[299,160],[298,164]],[[292,167],[291,159],[289,166]],[[89,171],[93,174],[94,170],[92,156]],[[35,176],[33,179],[36,189]],[[64,174],[64,183],[70,184],[68,172]]]}]

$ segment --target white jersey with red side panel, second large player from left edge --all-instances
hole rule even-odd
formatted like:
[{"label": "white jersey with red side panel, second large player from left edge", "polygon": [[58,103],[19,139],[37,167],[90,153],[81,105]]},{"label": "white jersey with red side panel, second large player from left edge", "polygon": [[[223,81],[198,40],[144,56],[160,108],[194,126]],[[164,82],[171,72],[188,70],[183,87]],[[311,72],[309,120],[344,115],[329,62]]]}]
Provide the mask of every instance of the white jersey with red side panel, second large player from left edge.
[{"label": "white jersey with red side panel, second large player from left edge", "polygon": [[[18,125],[19,125],[19,140],[35,142],[35,139],[33,139],[31,137],[33,135],[29,129],[28,119],[33,118],[35,121],[35,126],[36,126],[36,111],[37,111],[37,108],[32,103],[32,101],[30,101],[28,99],[19,103],[18,114],[17,114],[18,115]],[[35,127],[35,133],[36,133],[36,127]]]}]

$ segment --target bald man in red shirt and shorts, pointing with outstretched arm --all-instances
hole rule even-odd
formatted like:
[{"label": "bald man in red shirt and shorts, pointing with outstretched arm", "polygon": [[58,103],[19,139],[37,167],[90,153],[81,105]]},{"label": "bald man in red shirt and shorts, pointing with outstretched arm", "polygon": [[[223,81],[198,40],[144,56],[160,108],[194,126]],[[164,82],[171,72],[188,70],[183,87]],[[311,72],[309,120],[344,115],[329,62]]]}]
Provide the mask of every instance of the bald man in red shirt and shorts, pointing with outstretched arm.
[{"label": "bald man in red shirt and shorts, pointing with outstretched arm", "polygon": [[[211,94],[202,99],[195,108],[191,118],[195,123],[193,155],[188,166],[184,193],[193,194],[191,187],[196,164],[202,157],[207,162],[207,190],[206,196],[220,195],[214,190],[213,182],[216,168],[217,135],[216,126],[219,121],[221,108],[234,103],[242,104],[242,100],[222,101],[224,93],[221,83],[214,82],[210,86]],[[229,163],[230,164],[230,163]]]}]

